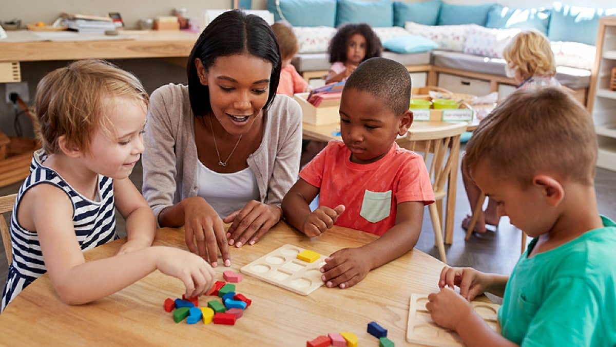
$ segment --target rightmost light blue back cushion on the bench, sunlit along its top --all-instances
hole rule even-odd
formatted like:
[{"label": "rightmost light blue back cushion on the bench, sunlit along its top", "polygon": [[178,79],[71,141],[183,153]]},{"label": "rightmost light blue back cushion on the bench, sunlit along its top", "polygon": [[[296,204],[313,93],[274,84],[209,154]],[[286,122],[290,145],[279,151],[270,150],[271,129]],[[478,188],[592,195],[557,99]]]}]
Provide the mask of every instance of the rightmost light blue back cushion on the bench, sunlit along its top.
[{"label": "rightmost light blue back cushion on the bench, sunlit along its top", "polygon": [[561,2],[554,2],[553,6],[548,28],[550,41],[575,41],[594,46],[599,18],[604,15],[616,15],[616,8],[595,9],[569,6]]}]

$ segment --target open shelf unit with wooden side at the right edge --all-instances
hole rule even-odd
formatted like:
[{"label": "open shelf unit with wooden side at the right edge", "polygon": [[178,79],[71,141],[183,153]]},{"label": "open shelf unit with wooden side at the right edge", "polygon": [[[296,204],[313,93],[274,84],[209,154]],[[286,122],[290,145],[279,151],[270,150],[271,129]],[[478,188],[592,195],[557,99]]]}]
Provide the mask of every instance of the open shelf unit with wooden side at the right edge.
[{"label": "open shelf unit with wooden side at the right edge", "polygon": [[596,47],[588,111],[599,142],[597,166],[616,171],[616,91],[610,90],[612,69],[616,68],[616,17],[599,21]]}]

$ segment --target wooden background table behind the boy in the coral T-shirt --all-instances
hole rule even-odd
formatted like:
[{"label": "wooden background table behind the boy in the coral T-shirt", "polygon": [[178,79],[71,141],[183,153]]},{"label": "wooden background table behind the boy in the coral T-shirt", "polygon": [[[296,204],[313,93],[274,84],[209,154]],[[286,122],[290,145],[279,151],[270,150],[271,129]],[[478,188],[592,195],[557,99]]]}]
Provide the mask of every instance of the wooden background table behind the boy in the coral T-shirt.
[{"label": "wooden background table behind the boy in the coral T-shirt", "polygon": [[[440,122],[440,121],[421,121],[421,122],[413,122],[411,127],[408,129],[408,132],[411,133],[413,130],[438,130],[439,128],[451,125],[449,122]],[[471,131],[477,127],[477,123],[469,123],[467,126],[467,130]],[[316,140],[316,141],[330,141],[330,140],[342,140],[342,137],[339,135],[334,135],[334,133],[340,131],[340,124],[324,124],[324,125],[312,125],[308,123],[302,123],[302,137],[304,140]],[[396,142],[400,145],[400,147],[408,148],[408,140],[407,136],[398,136]],[[456,158],[460,157],[460,152],[452,153],[450,155],[455,156]],[[459,167],[460,165],[458,165]],[[456,190],[458,186],[458,169],[452,170],[449,175],[447,182],[447,208],[445,209],[445,226],[444,230],[444,241],[447,245],[451,245],[453,243],[453,222],[454,215],[456,211]]]}]

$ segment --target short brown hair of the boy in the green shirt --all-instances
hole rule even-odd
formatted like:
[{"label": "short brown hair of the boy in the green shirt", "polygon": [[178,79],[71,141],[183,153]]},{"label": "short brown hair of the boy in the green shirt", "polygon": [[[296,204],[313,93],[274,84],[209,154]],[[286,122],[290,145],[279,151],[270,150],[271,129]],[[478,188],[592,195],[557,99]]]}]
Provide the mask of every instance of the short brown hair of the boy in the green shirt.
[{"label": "short brown hair of the boy in the green shirt", "polygon": [[585,107],[561,87],[521,88],[486,117],[466,145],[472,175],[486,164],[496,177],[532,185],[540,173],[592,185],[597,138]]}]

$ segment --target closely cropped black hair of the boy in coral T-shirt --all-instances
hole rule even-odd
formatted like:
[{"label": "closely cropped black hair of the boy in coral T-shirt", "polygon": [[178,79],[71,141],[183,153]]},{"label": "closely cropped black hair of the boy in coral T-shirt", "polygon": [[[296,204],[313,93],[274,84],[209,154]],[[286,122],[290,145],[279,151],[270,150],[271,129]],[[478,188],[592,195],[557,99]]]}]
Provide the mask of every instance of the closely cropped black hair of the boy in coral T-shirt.
[{"label": "closely cropped black hair of the boy in coral T-shirt", "polygon": [[344,84],[344,90],[367,91],[383,100],[384,106],[396,115],[408,111],[411,99],[411,77],[404,65],[383,57],[370,58],[359,64]]}]

